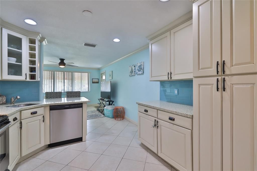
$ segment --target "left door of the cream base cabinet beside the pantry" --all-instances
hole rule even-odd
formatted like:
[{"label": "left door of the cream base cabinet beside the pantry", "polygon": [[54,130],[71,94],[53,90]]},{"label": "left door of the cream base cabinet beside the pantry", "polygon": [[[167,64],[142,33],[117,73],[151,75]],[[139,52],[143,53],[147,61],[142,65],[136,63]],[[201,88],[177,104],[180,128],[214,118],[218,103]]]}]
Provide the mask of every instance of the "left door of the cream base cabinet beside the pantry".
[{"label": "left door of the cream base cabinet beside the pantry", "polygon": [[153,128],[156,118],[138,112],[139,140],[153,152],[157,153],[157,127]]}]

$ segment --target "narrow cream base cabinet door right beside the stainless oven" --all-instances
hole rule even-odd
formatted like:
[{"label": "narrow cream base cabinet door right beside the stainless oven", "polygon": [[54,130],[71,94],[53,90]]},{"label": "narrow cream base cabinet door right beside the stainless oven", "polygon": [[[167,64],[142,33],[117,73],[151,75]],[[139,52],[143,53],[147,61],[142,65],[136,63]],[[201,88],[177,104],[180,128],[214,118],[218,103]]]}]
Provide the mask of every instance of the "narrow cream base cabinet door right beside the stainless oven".
[{"label": "narrow cream base cabinet door right beside the stainless oven", "polygon": [[9,127],[9,170],[12,170],[17,161],[21,157],[21,134],[20,134],[20,122],[16,122]]}]

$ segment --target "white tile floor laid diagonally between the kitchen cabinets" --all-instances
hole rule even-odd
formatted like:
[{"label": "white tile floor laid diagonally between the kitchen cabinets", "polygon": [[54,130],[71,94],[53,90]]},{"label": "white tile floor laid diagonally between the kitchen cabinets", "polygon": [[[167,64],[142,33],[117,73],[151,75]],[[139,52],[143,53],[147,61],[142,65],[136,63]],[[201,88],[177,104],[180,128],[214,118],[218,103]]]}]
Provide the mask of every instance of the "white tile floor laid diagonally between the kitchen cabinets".
[{"label": "white tile floor laid diagonally between the kitchen cabinets", "polygon": [[13,170],[175,170],[141,144],[127,120],[90,119],[87,130],[87,141],[46,148]]}]

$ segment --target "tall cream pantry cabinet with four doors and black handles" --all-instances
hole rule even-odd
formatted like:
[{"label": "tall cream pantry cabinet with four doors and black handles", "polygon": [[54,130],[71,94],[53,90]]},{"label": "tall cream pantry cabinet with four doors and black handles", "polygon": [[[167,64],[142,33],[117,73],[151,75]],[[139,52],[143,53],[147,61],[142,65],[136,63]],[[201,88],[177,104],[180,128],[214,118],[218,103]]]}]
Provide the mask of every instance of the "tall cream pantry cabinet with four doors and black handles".
[{"label": "tall cream pantry cabinet with four doors and black handles", "polygon": [[195,2],[193,42],[193,170],[257,170],[257,1]]}]

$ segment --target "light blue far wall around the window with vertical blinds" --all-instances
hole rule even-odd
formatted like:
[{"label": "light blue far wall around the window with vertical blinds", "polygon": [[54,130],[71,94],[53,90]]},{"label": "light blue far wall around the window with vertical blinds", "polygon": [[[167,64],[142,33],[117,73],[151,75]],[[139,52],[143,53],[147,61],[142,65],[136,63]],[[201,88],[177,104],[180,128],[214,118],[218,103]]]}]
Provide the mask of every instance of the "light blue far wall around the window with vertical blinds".
[{"label": "light blue far wall around the window with vertical blinds", "polygon": [[[89,104],[97,104],[100,98],[100,83],[92,84],[92,78],[98,78],[100,82],[100,70],[95,69],[83,69],[83,68],[71,68],[71,67],[50,67],[44,66],[44,70],[48,71],[67,71],[67,72],[90,72],[90,92],[81,92],[81,96],[88,98],[91,102]],[[63,97],[66,93],[62,93]]]}]

